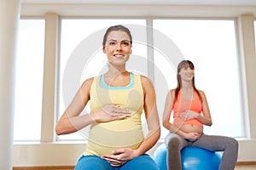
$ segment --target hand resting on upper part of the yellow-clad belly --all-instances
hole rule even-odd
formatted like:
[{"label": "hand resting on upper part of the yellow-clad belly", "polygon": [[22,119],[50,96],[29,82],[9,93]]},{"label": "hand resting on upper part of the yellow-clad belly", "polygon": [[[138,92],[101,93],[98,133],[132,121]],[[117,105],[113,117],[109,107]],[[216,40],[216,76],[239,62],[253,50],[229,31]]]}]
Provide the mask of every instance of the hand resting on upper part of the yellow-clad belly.
[{"label": "hand resting on upper part of the yellow-clad belly", "polygon": [[90,113],[90,116],[96,122],[111,122],[131,116],[131,111],[118,105],[105,105],[102,110]]}]

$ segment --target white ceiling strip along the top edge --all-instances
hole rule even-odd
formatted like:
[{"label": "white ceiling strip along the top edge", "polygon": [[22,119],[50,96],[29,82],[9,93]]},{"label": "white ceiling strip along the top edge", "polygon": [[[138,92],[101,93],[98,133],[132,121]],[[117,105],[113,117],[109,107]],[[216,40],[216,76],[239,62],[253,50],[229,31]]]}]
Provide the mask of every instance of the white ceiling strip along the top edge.
[{"label": "white ceiling strip along the top edge", "polygon": [[256,6],[256,0],[20,0],[21,3],[108,3]]}]

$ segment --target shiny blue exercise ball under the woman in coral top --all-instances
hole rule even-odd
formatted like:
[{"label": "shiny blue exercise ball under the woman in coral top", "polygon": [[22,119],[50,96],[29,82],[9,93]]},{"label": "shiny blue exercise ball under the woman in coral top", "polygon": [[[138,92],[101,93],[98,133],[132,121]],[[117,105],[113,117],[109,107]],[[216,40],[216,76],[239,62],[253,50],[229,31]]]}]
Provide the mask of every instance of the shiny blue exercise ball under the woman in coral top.
[{"label": "shiny blue exercise ball under the woman in coral top", "polygon": [[[153,159],[160,170],[167,170],[166,144],[160,144],[154,151]],[[197,147],[185,147],[181,150],[183,170],[218,170],[221,152],[212,152]]]}]

